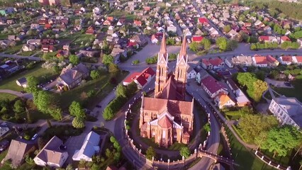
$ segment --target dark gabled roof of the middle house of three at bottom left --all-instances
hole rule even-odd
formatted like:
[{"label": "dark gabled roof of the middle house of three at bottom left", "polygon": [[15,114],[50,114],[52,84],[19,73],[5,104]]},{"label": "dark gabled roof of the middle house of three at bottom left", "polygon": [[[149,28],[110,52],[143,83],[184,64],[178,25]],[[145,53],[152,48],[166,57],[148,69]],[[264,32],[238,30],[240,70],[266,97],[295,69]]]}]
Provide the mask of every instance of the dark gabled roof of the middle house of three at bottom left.
[{"label": "dark gabled roof of the middle house of three at bottom left", "polygon": [[43,160],[43,162],[50,162],[53,164],[60,164],[62,159],[62,154],[67,151],[60,149],[62,145],[62,140],[59,137],[52,137],[50,141],[47,142],[45,147],[37,154],[36,157]]}]

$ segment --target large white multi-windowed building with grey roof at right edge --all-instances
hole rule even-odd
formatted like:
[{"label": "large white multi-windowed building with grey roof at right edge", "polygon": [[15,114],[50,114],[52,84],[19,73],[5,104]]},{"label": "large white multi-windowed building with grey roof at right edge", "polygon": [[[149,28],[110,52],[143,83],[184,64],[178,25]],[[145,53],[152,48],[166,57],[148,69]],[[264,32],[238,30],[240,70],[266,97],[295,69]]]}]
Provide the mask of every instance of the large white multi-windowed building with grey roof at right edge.
[{"label": "large white multi-windowed building with grey roof at right edge", "polygon": [[273,98],[269,104],[269,111],[282,125],[302,128],[302,103],[297,98],[286,98],[285,96]]}]

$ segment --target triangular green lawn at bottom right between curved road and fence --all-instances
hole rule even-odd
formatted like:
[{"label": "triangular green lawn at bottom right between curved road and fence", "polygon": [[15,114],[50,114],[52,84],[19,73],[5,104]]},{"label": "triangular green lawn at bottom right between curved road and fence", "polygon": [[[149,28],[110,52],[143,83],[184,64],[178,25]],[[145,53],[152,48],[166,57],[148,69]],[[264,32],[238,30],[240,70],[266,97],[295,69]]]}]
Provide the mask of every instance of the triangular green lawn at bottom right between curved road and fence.
[{"label": "triangular green lawn at bottom right between curved road and fence", "polygon": [[228,134],[230,140],[230,147],[232,152],[232,157],[235,159],[235,163],[240,164],[240,166],[236,166],[235,169],[242,170],[259,170],[259,169],[274,169],[271,166],[262,162],[258,157],[252,153],[251,150],[248,150],[243,145],[238,142],[236,137],[228,128],[226,128],[226,132]]}]

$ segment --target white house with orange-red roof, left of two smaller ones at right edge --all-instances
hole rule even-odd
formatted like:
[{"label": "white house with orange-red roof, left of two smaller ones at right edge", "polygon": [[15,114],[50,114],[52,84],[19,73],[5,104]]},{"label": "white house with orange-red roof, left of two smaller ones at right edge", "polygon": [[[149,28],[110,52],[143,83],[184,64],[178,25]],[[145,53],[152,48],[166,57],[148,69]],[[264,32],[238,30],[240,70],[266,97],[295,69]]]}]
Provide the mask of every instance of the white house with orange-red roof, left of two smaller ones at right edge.
[{"label": "white house with orange-red roof, left of two smaller ones at right edge", "polygon": [[254,55],[252,57],[252,63],[255,67],[276,67],[279,65],[278,60],[272,57],[272,55]]}]

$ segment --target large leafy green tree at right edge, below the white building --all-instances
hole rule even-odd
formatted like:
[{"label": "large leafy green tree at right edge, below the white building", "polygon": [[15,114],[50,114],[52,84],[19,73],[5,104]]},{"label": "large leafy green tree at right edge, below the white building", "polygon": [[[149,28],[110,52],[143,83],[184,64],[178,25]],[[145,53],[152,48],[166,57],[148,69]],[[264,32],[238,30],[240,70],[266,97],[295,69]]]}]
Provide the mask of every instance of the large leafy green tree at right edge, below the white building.
[{"label": "large leafy green tree at right edge, below the white building", "polygon": [[273,157],[278,154],[280,157],[286,156],[287,152],[297,147],[302,140],[301,132],[296,127],[284,125],[280,128],[272,128],[267,134],[267,139],[261,145],[262,149],[269,149],[274,152]]}]

